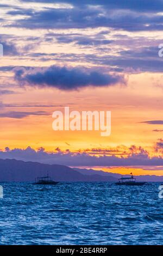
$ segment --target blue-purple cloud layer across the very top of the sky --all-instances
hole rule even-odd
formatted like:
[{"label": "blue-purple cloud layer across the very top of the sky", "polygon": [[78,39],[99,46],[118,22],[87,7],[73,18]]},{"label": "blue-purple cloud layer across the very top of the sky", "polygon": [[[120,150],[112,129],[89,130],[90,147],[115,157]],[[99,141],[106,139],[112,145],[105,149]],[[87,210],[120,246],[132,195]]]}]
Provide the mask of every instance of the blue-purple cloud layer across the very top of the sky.
[{"label": "blue-purple cloud layer across the very top of the sky", "polygon": [[[22,1],[35,2],[35,1]],[[39,3],[54,3],[54,1],[37,1]],[[71,1],[59,0],[60,8],[45,8],[35,10],[32,8],[16,9],[8,15],[22,15],[23,18],[12,22],[10,26],[37,28],[97,28],[110,27],[125,31],[155,31],[162,29],[161,0],[143,1]],[[70,8],[63,8],[63,3],[71,4]],[[96,8],[93,8],[96,7]],[[121,11],[120,11],[121,10]],[[150,13],[150,15],[149,15]]]}]

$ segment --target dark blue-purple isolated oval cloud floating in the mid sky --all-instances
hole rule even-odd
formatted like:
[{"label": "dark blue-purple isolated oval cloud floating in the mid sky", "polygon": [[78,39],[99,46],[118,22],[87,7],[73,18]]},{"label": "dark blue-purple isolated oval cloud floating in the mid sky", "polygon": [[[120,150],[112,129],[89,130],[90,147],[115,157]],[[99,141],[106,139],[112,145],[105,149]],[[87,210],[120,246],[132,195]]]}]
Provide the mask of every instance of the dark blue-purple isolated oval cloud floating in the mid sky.
[{"label": "dark blue-purple isolated oval cloud floating in the mid sky", "polygon": [[123,76],[103,74],[98,71],[89,71],[82,68],[68,69],[65,66],[50,66],[38,69],[15,69],[15,79],[22,85],[53,87],[61,90],[74,90],[87,86],[112,86],[116,83],[125,83]]}]

